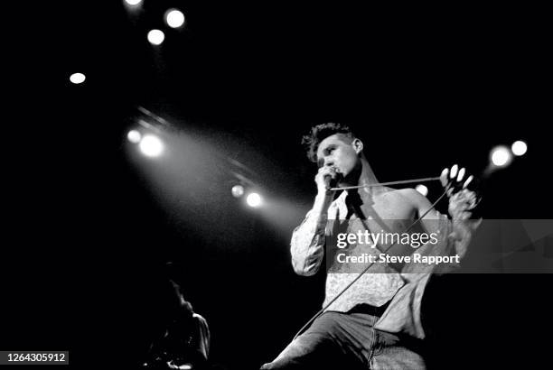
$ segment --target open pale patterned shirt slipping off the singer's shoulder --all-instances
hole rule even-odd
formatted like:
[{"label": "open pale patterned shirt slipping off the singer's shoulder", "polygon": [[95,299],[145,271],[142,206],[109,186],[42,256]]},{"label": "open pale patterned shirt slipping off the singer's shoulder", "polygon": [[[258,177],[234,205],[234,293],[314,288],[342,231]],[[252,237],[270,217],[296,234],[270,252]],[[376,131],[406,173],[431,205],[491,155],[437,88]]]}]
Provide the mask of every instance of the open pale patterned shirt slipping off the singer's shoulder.
[{"label": "open pale patterned shirt slipping off the singer's shoulder", "polygon": [[[319,270],[323,263],[327,236],[333,234],[336,222],[341,223],[348,216],[346,196],[347,192],[343,191],[340,197],[333,201],[327,217],[316,217],[312,211],[309,211],[304,222],[295,228],[291,241],[291,254],[296,273],[309,276]],[[448,237],[451,233],[451,223],[445,215],[438,215],[437,243],[427,243],[418,247],[417,254],[454,254],[455,247]],[[369,249],[359,248],[357,254],[361,252],[380,253],[375,248],[372,248],[371,252]],[[336,271],[331,268],[327,273],[323,307],[359,275],[359,273]],[[400,272],[388,264],[373,264],[367,273],[354,282],[326,310],[347,312],[362,303],[380,307],[389,302],[388,308],[374,327],[392,333],[404,332],[416,338],[424,338],[425,334],[420,322],[423,292],[431,273],[444,272],[443,267],[436,264],[405,264]]]}]

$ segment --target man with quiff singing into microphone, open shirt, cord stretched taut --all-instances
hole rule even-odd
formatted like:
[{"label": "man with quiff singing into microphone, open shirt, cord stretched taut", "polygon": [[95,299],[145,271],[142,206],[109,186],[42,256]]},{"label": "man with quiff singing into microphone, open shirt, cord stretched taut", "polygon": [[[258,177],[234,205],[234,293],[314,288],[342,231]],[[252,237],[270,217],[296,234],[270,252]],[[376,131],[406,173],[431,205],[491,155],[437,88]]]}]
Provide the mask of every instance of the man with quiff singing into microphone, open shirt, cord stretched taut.
[{"label": "man with quiff singing into microphone, open shirt, cord stretched taut", "polygon": [[[467,189],[464,169],[445,169],[440,180],[447,187],[451,220],[431,209],[431,203],[413,189],[394,190],[378,185],[363,154],[363,142],[349,127],[339,124],[314,126],[304,137],[307,155],[319,171],[314,177],[317,194],[313,208],[295,228],[291,241],[295,273],[314,275],[325,264],[325,299],[322,315],[295,338],[277,358],[262,369],[376,369],[425,368],[420,353],[425,337],[420,322],[420,303],[431,273],[444,273],[451,264],[429,265],[398,262],[372,264],[361,278],[335,301],[333,299],[360,275],[360,265],[334,259],[332,240],[342,227],[387,233],[435,233],[437,243],[417,248],[422,255],[463,257],[477,221],[470,219],[476,194]],[[451,187],[450,184],[456,184]],[[333,187],[357,187],[342,191]],[[335,199],[334,199],[335,198]],[[414,227],[417,217],[424,217]],[[411,227],[411,228],[409,228]],[[376,246],[376,247],[375,247]],[[326,251],[325,251],[326,249]],[[338,250],[349,256],[413,254],[410,245],[348,245]],[[349,259],[351,261],[354,259]],[[343,261],[343,258],[342,260]],[[368,264],[362,264],[365,267]],[[332,302],[332,303],[331,303]],[[330,305],[329,305],[330,303]]]}]

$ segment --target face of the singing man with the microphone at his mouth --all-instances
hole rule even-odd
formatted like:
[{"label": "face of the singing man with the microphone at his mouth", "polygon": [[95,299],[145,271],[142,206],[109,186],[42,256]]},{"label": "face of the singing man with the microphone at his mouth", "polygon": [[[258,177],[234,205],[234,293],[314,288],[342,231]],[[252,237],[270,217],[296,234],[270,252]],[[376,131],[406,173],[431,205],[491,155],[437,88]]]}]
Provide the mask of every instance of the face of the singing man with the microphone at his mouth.
[{"label": "face of the singing man with the microphone at his mouth", "polygon": [[344,134],[333,134],[324,139],[317,148],[319,167],[333,167],[346,177],[361,165],[358,153],[352,145],[352,139]]}]

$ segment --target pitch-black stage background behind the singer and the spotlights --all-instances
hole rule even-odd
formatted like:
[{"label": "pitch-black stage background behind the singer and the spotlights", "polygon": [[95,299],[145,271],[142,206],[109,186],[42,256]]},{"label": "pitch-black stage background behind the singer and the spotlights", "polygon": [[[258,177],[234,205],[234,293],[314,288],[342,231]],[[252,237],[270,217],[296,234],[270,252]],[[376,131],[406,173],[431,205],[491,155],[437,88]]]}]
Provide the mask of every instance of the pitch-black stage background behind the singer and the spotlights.
[{"label": "pitch-black stage background behind the singer and the spotlights", "polygon": [[[171,261],[210,324],[215,363],[253,369],[277,356],[323,300],[323,277],[296,276],[288,252],[314,195],[300,145],[314,124],[356,127],[380,180],[454,163],[478,174],[494,145],[525,140],[529,153],[486,182],[483,216],[551,218],[543,9],[194,3],[6,8],[2,349],[139,364]],[[182,30],[164,26],[171,6]],[[154,27],[166,36],[157,48],[145,38]],[[84,84],[70,84],[75,71]],[[277,227],[245,208],[225,165],[202,153],[183,160],[186,190],[155,189],[148,173],[162,162],[126,140],[136,106],[202,137],[202,153],[248,166],[298,216]],[[436,278],[423,312],[429,365],[540,365],[551,282]]]}]

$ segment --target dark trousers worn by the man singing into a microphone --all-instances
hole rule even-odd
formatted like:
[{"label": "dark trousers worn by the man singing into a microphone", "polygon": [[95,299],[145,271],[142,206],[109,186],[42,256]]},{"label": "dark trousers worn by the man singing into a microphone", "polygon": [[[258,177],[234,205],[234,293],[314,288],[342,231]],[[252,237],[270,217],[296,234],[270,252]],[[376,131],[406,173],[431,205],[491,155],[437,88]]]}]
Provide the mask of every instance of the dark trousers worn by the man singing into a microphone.
[{"label": "dark trousers worn by the man singing into a microphone", "polygon": [[327,311],[266,369],[424,369],[416,339],[377,330],[378,316]]}]

